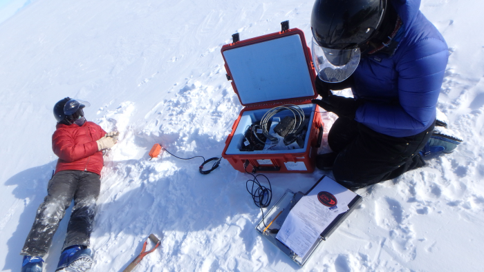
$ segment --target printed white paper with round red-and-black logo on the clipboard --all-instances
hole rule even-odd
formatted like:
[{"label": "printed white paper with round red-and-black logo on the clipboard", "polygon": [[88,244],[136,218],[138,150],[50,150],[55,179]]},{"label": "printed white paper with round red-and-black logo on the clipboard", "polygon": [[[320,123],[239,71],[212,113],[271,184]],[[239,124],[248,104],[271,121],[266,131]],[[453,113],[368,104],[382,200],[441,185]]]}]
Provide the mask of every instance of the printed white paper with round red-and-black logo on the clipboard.
[{"label": "printed white paper with round red-and-black logo on the clipboard", "polygon": [[355,196],[333,179],[324,177],[292,208],[277,233],[277,240],[304,257],[337,215],[348,211],[348,203]]}]

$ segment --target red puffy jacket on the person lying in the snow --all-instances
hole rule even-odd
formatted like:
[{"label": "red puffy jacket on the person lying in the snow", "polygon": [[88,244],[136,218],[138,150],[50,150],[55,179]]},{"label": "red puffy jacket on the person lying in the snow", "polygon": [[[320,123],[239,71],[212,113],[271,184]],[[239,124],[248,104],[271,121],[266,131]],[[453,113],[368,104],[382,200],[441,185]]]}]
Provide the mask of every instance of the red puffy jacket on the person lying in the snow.
[{"label": "red puffy jacket on the person lying in the snow", "polygon": [[52,135],[52,150],[59,157],[55,173],[80,170],[101,175],[104,161],[96,141],[104,137],[106,131],[87,121],[82,126],[57,124],[56,128]]}]

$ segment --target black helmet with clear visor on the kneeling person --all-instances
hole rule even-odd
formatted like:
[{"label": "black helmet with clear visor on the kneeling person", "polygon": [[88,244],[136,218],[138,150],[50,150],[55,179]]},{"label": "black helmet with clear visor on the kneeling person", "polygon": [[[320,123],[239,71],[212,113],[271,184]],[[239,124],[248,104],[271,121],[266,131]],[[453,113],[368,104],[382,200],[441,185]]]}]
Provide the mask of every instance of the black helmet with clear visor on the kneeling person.
[{"label": "black helmet with clear visor on the kneeling person", "polygon": [[320,79],[341,82],[360,63],[360,47],[382,24],[387,0],[316,0],[311,14],[313,62]]}]

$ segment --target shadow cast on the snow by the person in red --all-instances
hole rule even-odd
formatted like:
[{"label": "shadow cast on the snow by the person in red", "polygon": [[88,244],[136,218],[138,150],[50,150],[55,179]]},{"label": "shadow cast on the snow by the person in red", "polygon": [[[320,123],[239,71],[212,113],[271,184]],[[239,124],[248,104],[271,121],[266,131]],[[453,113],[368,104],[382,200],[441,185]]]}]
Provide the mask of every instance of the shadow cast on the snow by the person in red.
[{"label": "shadow cast on the snow by the person in red", "polygon": [[[35,220],[37,208],[39,208],[39,205],[44,201],[44,197],[47,195],[47,184],[52,177],[56,162],[57,160],[43,166],[37,166],[21,171],[5,182],[6,186],[17,186],[12,193],[17,199],[24,202],[24,211],[19,217],[17,229],[12,233],[12,237],[8,239],[8,252],[6,254],[5,266],[2,268],[3,271],[20,270],[23,257],[19,255],[19,253],[24,246],[26,237]],[[44,258],[46,264],[48,264],[44,265],[47,271],[53,271],[55,270],[55,267],[57,267],[60,251],[64,242],[64,236],[66,234],[68,218],[71,216],[71,208],[72,205],[66,211],[64,219],[60,223],[57,233],[54,235],[53,246],[50,247],[48,255]]]}]

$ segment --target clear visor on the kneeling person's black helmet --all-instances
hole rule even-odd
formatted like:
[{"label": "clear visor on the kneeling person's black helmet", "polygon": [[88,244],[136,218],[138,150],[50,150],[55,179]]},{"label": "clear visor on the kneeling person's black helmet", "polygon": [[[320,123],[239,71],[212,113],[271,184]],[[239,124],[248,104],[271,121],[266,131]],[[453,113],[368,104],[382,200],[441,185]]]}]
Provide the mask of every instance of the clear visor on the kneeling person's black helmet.
[{"label": "clear visor on the kneeling person's black helmet", "polygon": [[360,48],[331,49],[319,46],[313,38],[313,63],[318,77],[325,82],[341,82],[355,72],[360,64]]}]

